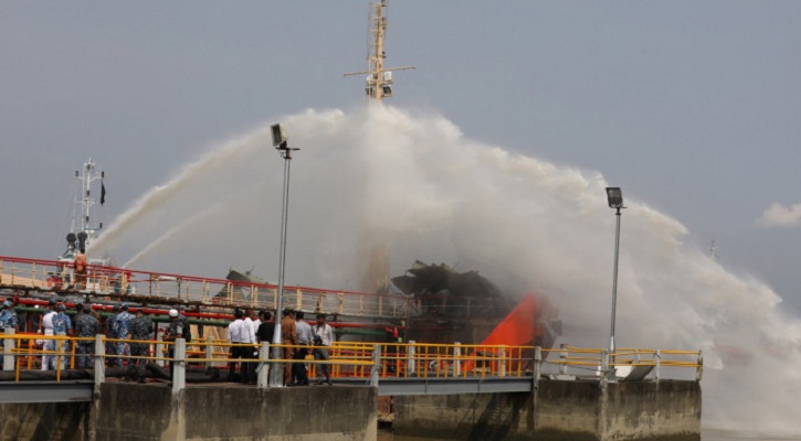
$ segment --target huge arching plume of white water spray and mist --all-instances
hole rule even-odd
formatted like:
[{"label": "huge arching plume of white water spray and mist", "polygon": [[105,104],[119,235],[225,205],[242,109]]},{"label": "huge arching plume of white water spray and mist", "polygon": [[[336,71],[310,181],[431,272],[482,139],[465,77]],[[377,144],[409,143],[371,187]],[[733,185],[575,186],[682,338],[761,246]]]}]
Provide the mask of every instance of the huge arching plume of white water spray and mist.
[{"label": "huge arching plume of white water spray and mist", "polygon": [[[393,276],[414,259],[477,269],[504,289],[550,297],[567,343],[608,344],[615,216],[600,173],[471,141],[442,116],[392,107],[280,122],[302,149],[292,161],[287,283],[358,289],[366,250],[380,241]],[[283,166],[268,123],[256,128],[143,196],[93,251],[145,249],[136,269],[222,277],[255,267],[275,280]],[[703,349],[705,424],[792,429],[801,322],[765,283],[684,244],[677,220],[630,195],[626,206],[618,347]]]}]

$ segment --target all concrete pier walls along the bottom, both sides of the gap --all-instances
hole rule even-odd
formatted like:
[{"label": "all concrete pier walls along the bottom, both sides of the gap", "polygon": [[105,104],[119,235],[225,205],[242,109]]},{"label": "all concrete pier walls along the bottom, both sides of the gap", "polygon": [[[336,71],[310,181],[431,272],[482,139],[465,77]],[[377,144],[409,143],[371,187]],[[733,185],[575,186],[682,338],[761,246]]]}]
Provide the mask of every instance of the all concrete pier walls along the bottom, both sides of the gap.
[{"label": "all concrete pier walls along the bottom, both sides of the gap", "polygon": [[[540,380],[533,392],[391,398],[393,431],[435,440],[699,441],[698,381]],[[106,381],[93,402],[0,405],[0,440],[375,441],[378,389]]]}]

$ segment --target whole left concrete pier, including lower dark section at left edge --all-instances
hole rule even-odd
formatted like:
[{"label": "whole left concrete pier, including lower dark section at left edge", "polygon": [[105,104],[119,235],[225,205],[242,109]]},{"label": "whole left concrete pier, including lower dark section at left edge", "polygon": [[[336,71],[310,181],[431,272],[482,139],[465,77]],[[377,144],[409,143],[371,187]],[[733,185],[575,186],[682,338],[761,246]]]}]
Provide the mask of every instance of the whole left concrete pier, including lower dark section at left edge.
[{"label": "whole left concrete pier, including lower dark section at left edge", "polygon": [[0,440],[375,441],[376,389],[104,383],[95,402],[0,405]]}]

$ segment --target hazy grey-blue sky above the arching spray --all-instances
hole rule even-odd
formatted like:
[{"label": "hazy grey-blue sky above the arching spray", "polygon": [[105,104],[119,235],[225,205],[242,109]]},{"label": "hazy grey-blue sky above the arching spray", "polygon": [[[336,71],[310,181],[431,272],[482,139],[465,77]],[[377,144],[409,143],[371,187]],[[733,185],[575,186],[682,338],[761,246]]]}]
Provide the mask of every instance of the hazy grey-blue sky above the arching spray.
[{"label": "hazy grey-blue sky above the arching spray", "polygon": [[[62,250],[70,173],[89,155],[113,218],[215,141],[363,104],[361,78],[341,74],[365,67],[365,1],[0,11],[3,255]],[[396,75],[390,103],[600,171],[801,309],[800,21],[793,1],[396,0],[387,63],[418,69]]]}]

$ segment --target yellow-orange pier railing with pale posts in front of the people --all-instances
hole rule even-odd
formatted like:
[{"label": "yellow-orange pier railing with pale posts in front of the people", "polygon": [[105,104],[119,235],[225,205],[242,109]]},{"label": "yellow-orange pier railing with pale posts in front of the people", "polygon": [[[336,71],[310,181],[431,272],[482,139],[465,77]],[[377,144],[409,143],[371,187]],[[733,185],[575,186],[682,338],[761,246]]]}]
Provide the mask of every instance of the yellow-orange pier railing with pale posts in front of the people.
[{"label": "yellow-orange pier railing with pale posts in front of the people", "polygon": [[[159,337],[160,338],[160,337]],[[45,348],[45,342],[53,342]],[[562,346],[555,349],[542,349],[535,346],[504,346],[504,345],[463,345],[463,344],[425,344],[409,342],[401,343],[358,343],[336,342],[329,349],[330,359],[317,361],[313,356],[305,359],[270,358],[270,344],[243,345],[230,344],[226,341],[208,337],[190,343],[183,340],[176,342],[136,341],[125,338],[107,338],[104,335],[95,337],[71,337],[65,335],[14,334],[7,330],[2,348],[3,370],[14,370],[14,380],[20,381],[23,370],[40,369],[49,357],[55,362],[55,378],[61,380],[65,368],[74,368],[76,359],[82,356],[76,352],[77,342],[94,342],[93,361],[96,381],[105,380],[105,366],[108,361],[118,359],[117,364],[128,364],[131,361],[145,361],[164,366],[172,364],[178,375],[173,377],[173,389],[185,387],[185,370],[188,364],[205,367],[228,369],[231,363],[252,363],[259,373],[259,385],[266,387],[267,376],[265,366],[275,364],[305,363],[309,367],[310,378],[317,377],[319,364],[330,365],[334,379],[363,379],[369,384],[378,385],[381,379],[476,379],[484,378],[534,378],[535,381],[546,374],[548,367],[555,367],[558,376],[573,378],[584,374],[588,377],[597,376],[601,380],[607,377],[600,375],[607,369],[623,369],[635,367],[654,370],[652,379],[661,378],[661,368],[695,369],[696,380],[700,380],[703,373],[703,357],[699,351],[663,351],[663,349],[619,349],[610,354],[605,349],[578,348]],[[147,344],[148,355],[131,356],[127,354],[106,354],[106,344]],[[253,347],[259,353],[255,358],[232,358],[232,347]],[[278,345],[278,347],[306,347],[309,354],[314,346]],[[170,351],[170,348],[172,351]],[[172,352],[173,355],[169,356]],[[550,356],[548,356],[550,355]],[[610,362],[612,359],[612,362]],[[649,370],[651,374],[651,370]],[[97,379],[97,378],[101,379]],[[176,386],[178,384],[178,386]]]}]

